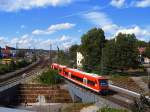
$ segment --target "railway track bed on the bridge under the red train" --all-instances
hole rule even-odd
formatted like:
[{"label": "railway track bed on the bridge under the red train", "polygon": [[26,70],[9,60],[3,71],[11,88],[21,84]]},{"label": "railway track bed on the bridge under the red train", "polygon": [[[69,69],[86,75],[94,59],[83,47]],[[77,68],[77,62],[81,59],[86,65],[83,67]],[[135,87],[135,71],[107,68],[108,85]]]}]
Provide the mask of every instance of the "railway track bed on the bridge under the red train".
[{"label": "railway track bed on the bridge under the red train", "polygon": [[132,91],[129,91],[129,90],[117,87],[117,86],[113,86],[113,85],[110,85],[110,90],[107,95],[101,95],[90,89],[87,89],[83,86],[73,83],[70,80],[67,80],[66,78],[65,80],[66,82],[70,82],[74,84],[75,86],[77,86],[78,88],[81,88],[81,90],[83,90],[84,92],[91,93],[95,95],[95,97],[97,98],[98,97],[104,98],[105,100],[118,104],[121,107],[124,107],[126,109],[131,109],[134,105],[135,99],[140,97],[140,94],[138,93],[135,93],[135,92],[132,92]]}]

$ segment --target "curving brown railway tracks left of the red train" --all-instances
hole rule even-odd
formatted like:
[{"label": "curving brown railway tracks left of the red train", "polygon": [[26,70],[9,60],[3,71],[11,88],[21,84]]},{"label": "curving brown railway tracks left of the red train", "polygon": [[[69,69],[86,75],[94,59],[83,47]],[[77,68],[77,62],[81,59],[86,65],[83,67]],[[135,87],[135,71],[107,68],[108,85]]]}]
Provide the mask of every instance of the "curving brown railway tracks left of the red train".
[{"label": "curving brown railway tracks left of the red train", "polygon": [[19,75],[16,75],[14,77],[11,77],[3,82],[0,83],[0,92],[13,87],[19,83],[22,83],[27,78],[30,78],[33,75],[37,75],[44,67],[47,66],[48,59],[41,59],[39,63],[32,68],[25,70],[24,73],[20,73]]}]

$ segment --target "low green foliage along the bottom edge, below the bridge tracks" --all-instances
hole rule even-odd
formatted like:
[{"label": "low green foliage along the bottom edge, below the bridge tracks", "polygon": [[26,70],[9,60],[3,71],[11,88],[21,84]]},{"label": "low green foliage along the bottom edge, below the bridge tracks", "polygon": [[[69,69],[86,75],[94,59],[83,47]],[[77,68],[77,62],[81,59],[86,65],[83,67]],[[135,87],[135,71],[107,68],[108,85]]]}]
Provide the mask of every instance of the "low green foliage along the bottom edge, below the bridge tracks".
[{"label": "low green foliage along the bottom edge, below the bridge tracks", "polygon": [[128,112],[128,111],[122,109],[110,108],[106,106],[104,108],[99,109],[97,112]]}]

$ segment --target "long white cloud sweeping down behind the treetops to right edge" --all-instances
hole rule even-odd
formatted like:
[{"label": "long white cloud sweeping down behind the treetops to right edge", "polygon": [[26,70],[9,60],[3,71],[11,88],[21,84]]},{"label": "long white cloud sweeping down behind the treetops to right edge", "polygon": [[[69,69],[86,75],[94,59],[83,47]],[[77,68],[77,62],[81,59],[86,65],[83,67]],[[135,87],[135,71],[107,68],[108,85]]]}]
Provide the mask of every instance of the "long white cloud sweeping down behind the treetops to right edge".
[{"label": "long white cloud sweeping down behind the treetops to right edge", "polygon": [[150,30],[148,28],[141,28],[137,25],[130,27],[119,26],[113,23],[113,21],[103,12],[90,12],[84,14],[83,17],[94,23],[96,26],[101,27],[109,38],[116,36],[119,32],[129,34],[134,33],[138,39],[145,39],[146,41],[149,40],[150,37]]}]

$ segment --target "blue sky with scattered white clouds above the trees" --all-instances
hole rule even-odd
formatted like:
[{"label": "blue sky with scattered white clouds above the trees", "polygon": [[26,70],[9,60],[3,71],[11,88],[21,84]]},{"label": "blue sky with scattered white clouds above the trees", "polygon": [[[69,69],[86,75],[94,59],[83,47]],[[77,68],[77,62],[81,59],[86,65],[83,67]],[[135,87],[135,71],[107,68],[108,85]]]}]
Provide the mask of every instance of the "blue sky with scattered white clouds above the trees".
[{"label": "blue sky with scattered white clouds above the trees", "polygon": [[68,49],[91,28],[150,41],[150,0],[0,0],[0,46]]}]

